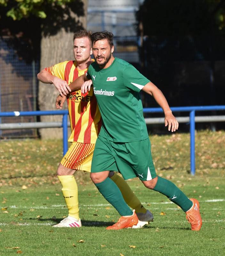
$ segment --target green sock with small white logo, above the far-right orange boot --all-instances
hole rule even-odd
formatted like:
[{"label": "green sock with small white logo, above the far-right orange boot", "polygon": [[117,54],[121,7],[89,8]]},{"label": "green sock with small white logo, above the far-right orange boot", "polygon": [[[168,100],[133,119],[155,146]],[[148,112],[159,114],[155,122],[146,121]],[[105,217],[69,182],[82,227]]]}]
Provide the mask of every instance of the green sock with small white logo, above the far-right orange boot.
[{"label": "green sock with small white logo, above the far-right orange boot", "polygon": [[190,199],[174,183],[159,176],[153,190],[167,196],[169,200],[179,205],[184,212],[187,212],[193,205]]}]

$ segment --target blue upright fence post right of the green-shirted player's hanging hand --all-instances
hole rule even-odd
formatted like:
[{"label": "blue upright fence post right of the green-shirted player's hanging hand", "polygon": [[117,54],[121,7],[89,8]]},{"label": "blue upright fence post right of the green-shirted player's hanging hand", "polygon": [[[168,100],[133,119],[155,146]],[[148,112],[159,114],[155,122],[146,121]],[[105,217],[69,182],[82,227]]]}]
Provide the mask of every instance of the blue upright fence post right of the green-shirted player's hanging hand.
[{"label": "blue upright fence post right of the green-shirted player's hanging hand", "polygon": [[195,175],[195,110],[190,112],[190,173]]}]

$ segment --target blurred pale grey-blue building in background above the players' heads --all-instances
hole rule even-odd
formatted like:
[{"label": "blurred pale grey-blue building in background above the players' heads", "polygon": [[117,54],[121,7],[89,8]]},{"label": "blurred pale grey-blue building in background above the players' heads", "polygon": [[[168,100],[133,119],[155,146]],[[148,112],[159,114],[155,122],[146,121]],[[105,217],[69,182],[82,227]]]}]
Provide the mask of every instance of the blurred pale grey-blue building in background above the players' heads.
[{"label": "blurred pale grey-blue building in background above the players' heads", "polygon": [[113,33],[114,56],[139,62],[135,12],[144,0],[89,0],[87,29]]}]

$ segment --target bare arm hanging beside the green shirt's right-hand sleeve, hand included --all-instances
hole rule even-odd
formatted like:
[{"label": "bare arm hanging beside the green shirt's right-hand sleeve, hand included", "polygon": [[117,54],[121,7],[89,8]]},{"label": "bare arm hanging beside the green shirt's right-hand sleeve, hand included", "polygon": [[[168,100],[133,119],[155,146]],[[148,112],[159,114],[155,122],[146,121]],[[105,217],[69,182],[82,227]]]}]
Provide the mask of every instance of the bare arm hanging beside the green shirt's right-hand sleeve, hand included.
[{"label": "bare arm hanging beside the green shirt's right-hand sleeve, hand included", "polygon": [[153,98],[155,99],[155,101],[159,104],[159,106],[163,109],[164,114],[165,114],[165,126],[168,125],[168,131],[171,132],[175,132],[178,129],[178,122],[175,118],[175,116],[172,114],[172,111],[168,105],[168,102],[165,98],[165,96],[163,95],[163,93],[161,92],[161,90],[159,90],[159,88],[149,82],[147,83],[142,90],[148,94],[150,94],[151,96],[153,96]]}]

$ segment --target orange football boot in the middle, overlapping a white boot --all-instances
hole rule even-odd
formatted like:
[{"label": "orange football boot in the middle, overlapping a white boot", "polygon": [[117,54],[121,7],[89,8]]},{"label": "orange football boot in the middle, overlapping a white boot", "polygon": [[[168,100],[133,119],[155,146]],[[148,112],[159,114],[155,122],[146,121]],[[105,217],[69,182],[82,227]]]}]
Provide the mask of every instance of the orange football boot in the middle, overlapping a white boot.
[{"label": "orange football boot in the middle, overlapping a white boot", "polygon": [[115,224],[107,227],[106,229],[107,230],[110,230],[110,229],[118,230],[118,229],[122,229],[122,228],[131,228],[134,225],[137,225],[137,223],[138,223],[138,218],[135,213],[135,210],[133,210],[133,214],[131,216],[120,217],[120,219]]}]

